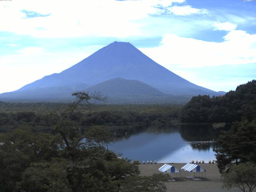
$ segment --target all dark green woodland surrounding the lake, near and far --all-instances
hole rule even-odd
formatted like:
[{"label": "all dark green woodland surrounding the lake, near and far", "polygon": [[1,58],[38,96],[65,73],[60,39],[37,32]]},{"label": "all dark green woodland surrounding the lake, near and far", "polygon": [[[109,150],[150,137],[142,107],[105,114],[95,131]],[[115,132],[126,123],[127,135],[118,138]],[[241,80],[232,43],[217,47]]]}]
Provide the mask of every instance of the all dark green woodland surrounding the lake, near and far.
[{"label": "all dark green woodland surrounding the lake, near and far", "polygon": [[73,95],[71,104],[0,102],[2,191],[166,191],[166,176],[139,176],[138,162],[108,150],[116,130],[129,127],[183,124],[186,138],[186,124],[225,122],[230,128],[221,132],[216,149],[220,172],[225,176],[234,163],[256,164],[255,80],[224,96],[193,97],[184,106],[94,105],[85,92]]}]

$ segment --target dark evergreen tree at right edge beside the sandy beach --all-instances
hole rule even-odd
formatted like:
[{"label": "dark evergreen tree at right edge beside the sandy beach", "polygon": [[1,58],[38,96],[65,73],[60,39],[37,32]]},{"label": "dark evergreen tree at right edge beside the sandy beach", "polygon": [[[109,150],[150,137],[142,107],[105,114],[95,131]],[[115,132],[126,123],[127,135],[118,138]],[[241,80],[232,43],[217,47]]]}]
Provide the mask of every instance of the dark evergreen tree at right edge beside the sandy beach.
[{"label": "dark evergreen tree at right edge beside the sandy beach", "polygon": [[227,170],[231,162],[256,164],[256,120],[235,122],[229,131],[220,134],[221,148],[216,150],[220,172]]}]

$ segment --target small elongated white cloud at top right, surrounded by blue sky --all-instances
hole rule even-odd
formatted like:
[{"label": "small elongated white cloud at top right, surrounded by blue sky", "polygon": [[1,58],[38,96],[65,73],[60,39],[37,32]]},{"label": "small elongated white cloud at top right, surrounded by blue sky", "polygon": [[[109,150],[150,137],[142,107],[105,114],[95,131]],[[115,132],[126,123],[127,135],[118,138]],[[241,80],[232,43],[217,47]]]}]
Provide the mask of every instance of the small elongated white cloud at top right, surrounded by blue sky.
[{"label": "small elongated white cloud at top right, surrounded by blue sky", "polygon": [[192,8],[192,6],[190,6],[190,5],[171,6],[168,8],[168,11],[175,15],[181,15],[181,16],[186,16],[186,15],[191,15],[191,14],[207,14],[208,13],[208,10],[206,10],[206,9]]}]

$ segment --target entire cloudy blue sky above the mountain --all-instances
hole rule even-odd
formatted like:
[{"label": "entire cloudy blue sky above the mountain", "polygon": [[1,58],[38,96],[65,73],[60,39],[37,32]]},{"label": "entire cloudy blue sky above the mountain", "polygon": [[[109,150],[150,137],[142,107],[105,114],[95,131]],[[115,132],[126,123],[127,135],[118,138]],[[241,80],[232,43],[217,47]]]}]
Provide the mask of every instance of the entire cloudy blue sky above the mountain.
[{"label": "entire cloudy blue sky above the mountain", "polygon": [[0,93],[114,41],[190,82],[234,90],[256,79],[255,10],[254,0],[0,1]]}]

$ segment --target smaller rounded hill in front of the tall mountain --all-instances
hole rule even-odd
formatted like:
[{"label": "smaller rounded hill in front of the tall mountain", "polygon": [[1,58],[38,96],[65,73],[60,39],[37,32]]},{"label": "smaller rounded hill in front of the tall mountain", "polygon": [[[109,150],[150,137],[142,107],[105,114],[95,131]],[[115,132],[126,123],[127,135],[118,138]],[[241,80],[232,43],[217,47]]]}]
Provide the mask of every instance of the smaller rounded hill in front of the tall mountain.
[{"label": "smaller rounded hill in front of the tall mountain", "polygon": [[114,78],[87,89],[89,93],[99,92],[107,96],[108,103],[186,103],[188,97],[164,94],[138,80]]}]

